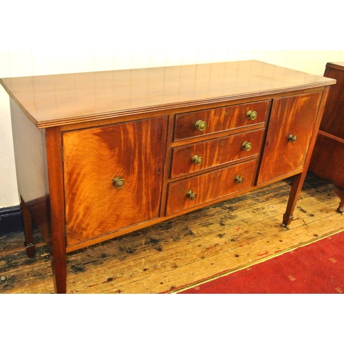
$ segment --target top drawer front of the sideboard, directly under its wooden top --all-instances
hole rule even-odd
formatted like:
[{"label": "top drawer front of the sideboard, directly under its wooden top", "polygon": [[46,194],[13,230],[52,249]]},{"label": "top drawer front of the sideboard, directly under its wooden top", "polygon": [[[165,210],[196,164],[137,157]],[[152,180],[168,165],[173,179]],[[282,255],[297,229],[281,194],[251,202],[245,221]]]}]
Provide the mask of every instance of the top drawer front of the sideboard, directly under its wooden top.
[{"label": "top drawer front of the sideboard, directly under its wooden top", "polygon": [[184,140],[265,122],[268,104],[269,101],[264,100],[178,114],[175,116],[174,140]]}]

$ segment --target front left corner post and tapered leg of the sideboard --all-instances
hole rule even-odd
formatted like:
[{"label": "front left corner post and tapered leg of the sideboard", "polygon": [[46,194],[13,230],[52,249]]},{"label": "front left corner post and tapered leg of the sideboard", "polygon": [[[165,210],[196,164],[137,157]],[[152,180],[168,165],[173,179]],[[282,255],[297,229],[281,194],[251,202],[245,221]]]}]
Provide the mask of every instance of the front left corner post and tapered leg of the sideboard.
[{"label": "front left corner post and tapered leg of the sideboard", "polygon": [[63,200],[63,165],[61,130],[57,127],[45,131],[47,143],[47,171],[50,192],[50,242],[52,275],[56,294],[65,294],[66,242],[65,206]]}]

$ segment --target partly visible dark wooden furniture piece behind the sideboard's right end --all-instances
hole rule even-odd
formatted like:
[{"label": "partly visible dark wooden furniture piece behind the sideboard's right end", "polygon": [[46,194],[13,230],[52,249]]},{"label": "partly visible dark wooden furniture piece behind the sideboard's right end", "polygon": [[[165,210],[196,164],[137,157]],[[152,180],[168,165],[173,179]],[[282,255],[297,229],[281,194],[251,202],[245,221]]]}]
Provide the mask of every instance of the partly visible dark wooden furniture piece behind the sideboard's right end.
[{"label": "partly visible dark wooden furniture piece behind the sideboard's right end", "polygon": [[310,163],[310,171],[334,183],[340,198],[337,211],[344,212],[344,62],[327,63],[324,76],[336,79],[330,88],[323,119]]}]

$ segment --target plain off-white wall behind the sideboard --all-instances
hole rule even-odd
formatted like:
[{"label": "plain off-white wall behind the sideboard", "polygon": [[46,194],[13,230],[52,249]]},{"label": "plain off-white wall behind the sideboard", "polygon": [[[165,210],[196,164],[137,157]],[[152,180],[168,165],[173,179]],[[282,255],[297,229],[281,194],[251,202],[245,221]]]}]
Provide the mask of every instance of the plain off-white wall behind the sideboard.
[{"label": "plain off-white wall behind the sideboard", "polygon": [[[328,17],[316,3],[271,3],[7,1],[0,78],[246,59],[322,75],[327,62],[344,61],[340,11]],[[17,204],[9,99],[0,87],[0,208]]]}]

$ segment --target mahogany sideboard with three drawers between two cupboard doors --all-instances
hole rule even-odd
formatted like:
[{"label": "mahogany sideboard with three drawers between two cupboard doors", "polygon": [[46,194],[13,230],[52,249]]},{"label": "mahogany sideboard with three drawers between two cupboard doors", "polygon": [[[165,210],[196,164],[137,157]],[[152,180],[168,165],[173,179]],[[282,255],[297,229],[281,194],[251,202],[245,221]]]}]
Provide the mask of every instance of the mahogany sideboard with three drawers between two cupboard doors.
[{"label": "mahogany sideboard with three drawers between two cupboard doors", "polygon": [[66,253],[294,176],[288,226],[335,80],[259,61],[3,78],[25,246]]}]

